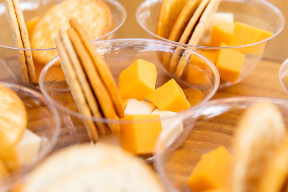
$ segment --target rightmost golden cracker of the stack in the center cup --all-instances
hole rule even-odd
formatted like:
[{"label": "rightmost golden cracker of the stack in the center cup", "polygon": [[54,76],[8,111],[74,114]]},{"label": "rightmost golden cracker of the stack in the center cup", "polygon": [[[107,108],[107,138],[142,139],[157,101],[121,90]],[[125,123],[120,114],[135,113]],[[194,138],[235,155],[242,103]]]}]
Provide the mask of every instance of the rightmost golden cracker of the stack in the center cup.
[{"label": "rightmost golden cracker of the stack in the center cup", "polygon": [[69,23],[72,28],[74,28],[79,36],[82,38],[82,41],[84,45],[86,46],[86,49],[88,50],[89,54],[91,55],[94,64],[96,65],[97,71],[103,80],[103,83],[105,84],[112,101],[114,103],[114,107],[116,109],[116,112],[119,117],[124,117],[124,110],[123,110],[123,103],[122,98],[120,97],[115,79],[109,69],[109,66],[107,65],[105,59],[101,57],[96,49],[95,46],[92,43],[91,38],[87,34],[86,30],[83,28],[82,25],[79,24],[77,19],[72,18],[69,20]]}]

